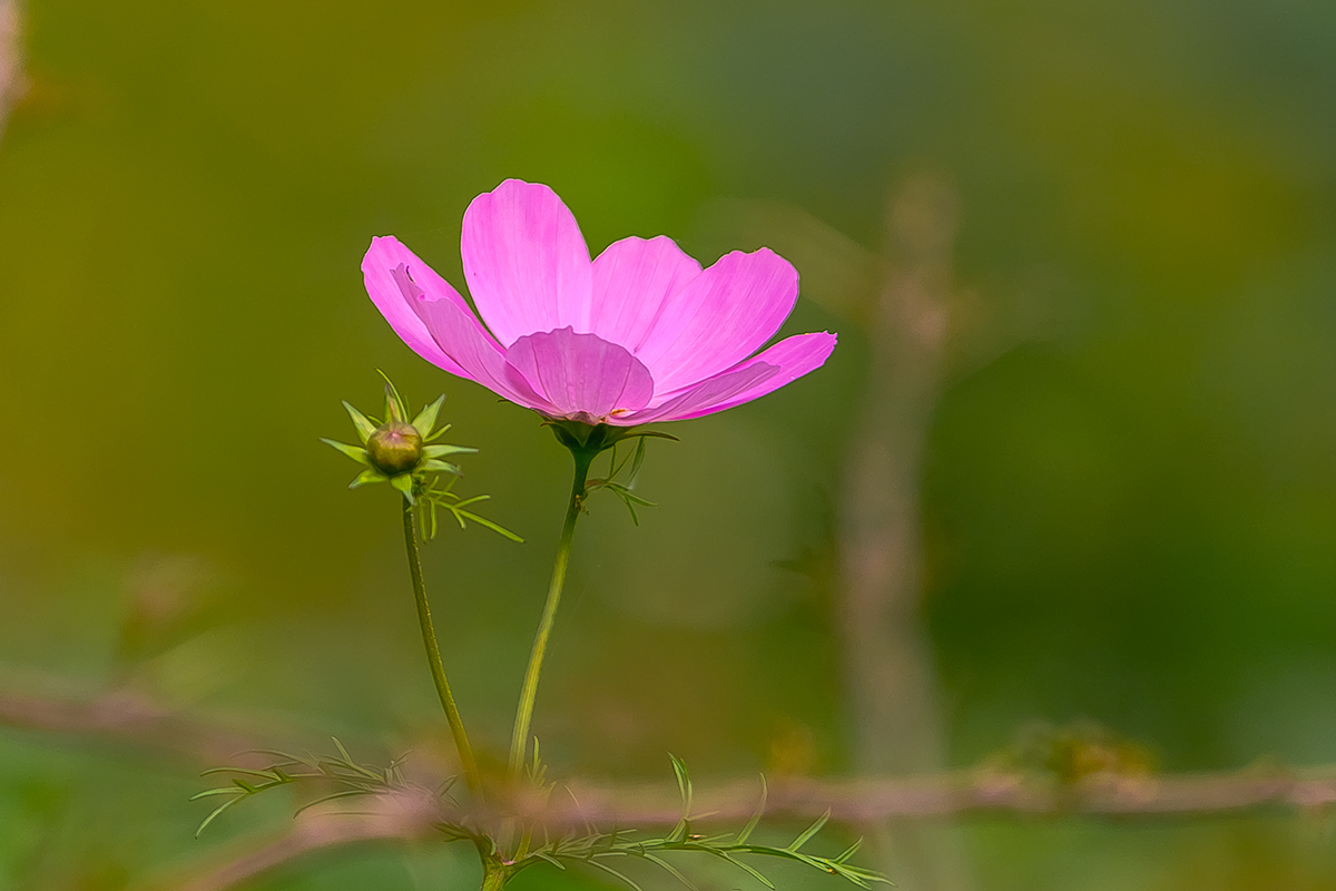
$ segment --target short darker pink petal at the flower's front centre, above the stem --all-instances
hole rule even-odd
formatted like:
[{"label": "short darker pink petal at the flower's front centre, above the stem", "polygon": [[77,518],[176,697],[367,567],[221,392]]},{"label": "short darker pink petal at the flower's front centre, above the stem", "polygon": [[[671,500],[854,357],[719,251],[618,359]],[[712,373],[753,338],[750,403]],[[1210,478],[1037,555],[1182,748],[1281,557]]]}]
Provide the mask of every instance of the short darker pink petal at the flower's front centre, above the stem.
[{"label": "short darker pink petal at the flower's front centre, above the stem", "polygon": [[649,370],[625,347],[569,326],[521,337],[505,361],[510,378],[545,397],[553,417],[600,423],[613,411],[643,409],[655,393]]}]

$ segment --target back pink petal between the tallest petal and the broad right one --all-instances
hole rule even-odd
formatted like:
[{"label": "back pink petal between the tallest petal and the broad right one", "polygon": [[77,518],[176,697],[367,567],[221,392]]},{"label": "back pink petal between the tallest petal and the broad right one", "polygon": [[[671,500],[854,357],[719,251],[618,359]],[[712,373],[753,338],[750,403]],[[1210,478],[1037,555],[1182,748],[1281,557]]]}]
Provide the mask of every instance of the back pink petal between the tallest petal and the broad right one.
[{"label": "back pink petal between the tallest petal and the broad right one", "polygon": [[589,330],[639,351],[665,301],[697,275],[700,263],[665,235],[613,242],[593,262]]}]

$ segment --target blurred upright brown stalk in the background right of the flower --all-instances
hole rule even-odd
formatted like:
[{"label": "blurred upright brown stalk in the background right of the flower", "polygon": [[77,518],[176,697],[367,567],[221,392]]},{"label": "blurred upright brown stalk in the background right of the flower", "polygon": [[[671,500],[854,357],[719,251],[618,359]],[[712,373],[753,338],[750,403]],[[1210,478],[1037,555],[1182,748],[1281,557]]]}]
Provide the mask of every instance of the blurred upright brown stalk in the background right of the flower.
[{"label": "blurred upright brown stalk in the background right of the flower", "polygon": [[[858,773],[939,769],[938,683],[921,604],[919,485],[953,331],[958,200],[930,174],[887,206],[886,277],[867,319],[870,363],[840,498],[839,621],[851,763]],[[942,827],[866,827],[872,855],[925,891],[973,887]]]}]

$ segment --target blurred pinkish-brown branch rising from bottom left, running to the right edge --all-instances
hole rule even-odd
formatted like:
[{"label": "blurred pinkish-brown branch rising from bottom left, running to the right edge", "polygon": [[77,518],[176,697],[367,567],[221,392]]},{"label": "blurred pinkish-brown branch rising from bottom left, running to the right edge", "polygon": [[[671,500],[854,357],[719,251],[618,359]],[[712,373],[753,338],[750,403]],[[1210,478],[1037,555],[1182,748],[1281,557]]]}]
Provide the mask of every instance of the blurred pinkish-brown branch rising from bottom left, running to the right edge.
[{"label": "blurred pinkish-brown branch rising from bottom left, running to the right edge", "polygon": [[[553,796],[548,807],[520,808],[525,819],[550,832],[581,834],[597,826],[672,826],[681,816],[675,789],[574,785],[570,796]],[[756,807],[755,783],[731,783],[701,796],[703,823],[740,826]],[[574,801],[578,800],[578,804]],[[941,776],[818,781],[802,780],[770,789],[771,819],[803,822],[827,810],[851,824],[895,819],[945,819],[974,814],[1086,818],[1202,816],[1280,806],[1300,810],[1336,803],[1336,765],[1299,776],[1283,769],[1154,777],[1098,776],[1074,785],[1035,781],[986,771]],[[194,864],[178,883],[151,887],[172,891],[226,891],[310,854],[367,842],[413,842],[429,838],[442,819],[429,795],[383,795],[370,812],[321,812],[299,819],[285,836],[212,868]],[[453,812],[458,820],[460,814]],[[480,823],[492,814],[468,815]]]}]

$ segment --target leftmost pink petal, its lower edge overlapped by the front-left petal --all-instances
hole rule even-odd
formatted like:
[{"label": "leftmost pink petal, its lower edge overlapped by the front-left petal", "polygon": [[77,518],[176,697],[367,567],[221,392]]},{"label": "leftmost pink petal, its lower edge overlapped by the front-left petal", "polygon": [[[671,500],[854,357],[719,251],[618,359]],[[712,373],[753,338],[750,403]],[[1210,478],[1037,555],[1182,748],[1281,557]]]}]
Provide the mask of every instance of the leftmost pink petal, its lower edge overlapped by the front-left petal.
[{"label": "leftmost pink petal, its lower edge overlapped by the front-left petal", "polygon": [[371,247],[362,258],[362,278],[375,309],[381,310],[381,315],[409,349],[450,374],[469,377],[432,339],[420,313],[424,302],[433,301],[468,306],[449,282],[391,236],[371,239]]}]

